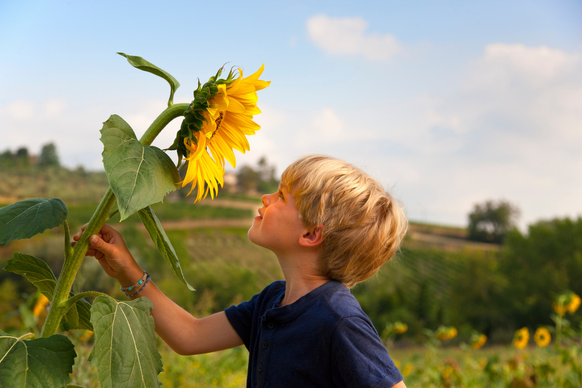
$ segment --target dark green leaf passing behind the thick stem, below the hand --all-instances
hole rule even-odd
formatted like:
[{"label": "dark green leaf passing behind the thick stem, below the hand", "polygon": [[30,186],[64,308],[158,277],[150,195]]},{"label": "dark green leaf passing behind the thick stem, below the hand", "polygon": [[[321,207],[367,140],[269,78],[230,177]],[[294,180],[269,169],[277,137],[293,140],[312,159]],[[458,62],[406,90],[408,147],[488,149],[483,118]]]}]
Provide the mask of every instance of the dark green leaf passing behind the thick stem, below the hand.
[{"label": "dark green leaf passing behind the thick stem, below the hand", "polygon": [[[52,293],[56,287],[56,277],[47,263],[34,256],[14,252],[6,264],[4,270],[26,277],[48,300],[52,300]],[[70,293],[69,297],[72,296],[74,294]],[[77,301],[61,320],[62,331],[71,329],[93,330],[91,304],[84,299]]]}]

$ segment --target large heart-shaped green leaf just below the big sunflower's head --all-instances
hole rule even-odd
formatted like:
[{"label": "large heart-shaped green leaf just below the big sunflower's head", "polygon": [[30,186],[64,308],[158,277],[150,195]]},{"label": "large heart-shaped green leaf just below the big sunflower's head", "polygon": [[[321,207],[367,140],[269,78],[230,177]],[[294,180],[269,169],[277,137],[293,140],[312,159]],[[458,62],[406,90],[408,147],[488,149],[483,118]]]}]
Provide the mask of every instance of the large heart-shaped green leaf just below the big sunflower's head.
[{"label": "large heart-shaped green leaf just below the big sunflower's head", "polygon": [[164,199],[180,179],[172,159],[158,147],[143,146],[132,127],[112,115],[101,129],[103,165],[117,198],[121,220]]}]

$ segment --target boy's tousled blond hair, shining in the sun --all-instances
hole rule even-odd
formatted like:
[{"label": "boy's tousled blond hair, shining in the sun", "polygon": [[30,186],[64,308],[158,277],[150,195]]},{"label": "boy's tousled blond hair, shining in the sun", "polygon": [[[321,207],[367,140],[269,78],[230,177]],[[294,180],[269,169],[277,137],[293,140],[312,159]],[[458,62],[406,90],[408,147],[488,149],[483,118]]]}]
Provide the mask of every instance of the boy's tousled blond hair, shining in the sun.
[{"label": "boy's tousled blond hair, shining in the sun", "polygon": [[325,275],[352,288],[398,251],[408,229],[404,210],[362,170],[308,155],[285,169],[281,183],[297,198],[301,221],[324,226],[320,270]]}]

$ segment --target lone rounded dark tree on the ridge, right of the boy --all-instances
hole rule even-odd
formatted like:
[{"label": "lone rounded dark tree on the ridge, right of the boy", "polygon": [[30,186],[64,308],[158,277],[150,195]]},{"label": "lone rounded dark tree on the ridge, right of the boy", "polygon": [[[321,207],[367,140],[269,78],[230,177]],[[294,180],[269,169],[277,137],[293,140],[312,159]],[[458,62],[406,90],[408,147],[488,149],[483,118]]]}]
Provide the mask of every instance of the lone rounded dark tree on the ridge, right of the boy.
[{"label": "lone rounded dark tree on the ridge, right of the boy", "polygon": [[502,244],[518,216],[519,209],[507,201],[475,204],[469,213],[469,240]]}]

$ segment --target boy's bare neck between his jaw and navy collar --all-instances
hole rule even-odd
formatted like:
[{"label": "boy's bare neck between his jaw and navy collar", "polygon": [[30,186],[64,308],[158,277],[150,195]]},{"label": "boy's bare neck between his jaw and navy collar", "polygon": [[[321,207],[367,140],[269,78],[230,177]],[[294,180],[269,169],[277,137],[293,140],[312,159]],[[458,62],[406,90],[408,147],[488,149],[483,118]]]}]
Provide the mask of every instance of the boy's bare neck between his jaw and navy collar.
[{"label": "boy's bare neck between his jaw and navy collar", "polygon": [[[306,257],[307,256],[307,257]],[[277,257],[285,276],[285,296],[281,307],[292,304],[300,297],[317,289],[330,279],[317,269],[317,255],[299,257]]]}]

